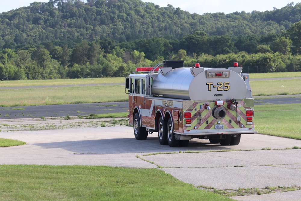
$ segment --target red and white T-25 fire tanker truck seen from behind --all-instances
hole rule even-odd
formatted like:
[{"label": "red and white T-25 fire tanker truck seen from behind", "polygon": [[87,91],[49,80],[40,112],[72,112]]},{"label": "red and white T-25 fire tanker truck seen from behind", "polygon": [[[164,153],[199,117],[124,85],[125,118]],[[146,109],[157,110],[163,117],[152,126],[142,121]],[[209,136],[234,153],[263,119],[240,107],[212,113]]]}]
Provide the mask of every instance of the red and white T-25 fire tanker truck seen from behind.
[{"label": "red and white T-25 fire tanker truck seen from behind", "polygon": [[125,90],[137,140],[158,132],[161,145],[188,146],[198,138],[227,146],[257,133],[249,74],[237,62],[227,69],[163,61],[136,71],[125,78]]}]

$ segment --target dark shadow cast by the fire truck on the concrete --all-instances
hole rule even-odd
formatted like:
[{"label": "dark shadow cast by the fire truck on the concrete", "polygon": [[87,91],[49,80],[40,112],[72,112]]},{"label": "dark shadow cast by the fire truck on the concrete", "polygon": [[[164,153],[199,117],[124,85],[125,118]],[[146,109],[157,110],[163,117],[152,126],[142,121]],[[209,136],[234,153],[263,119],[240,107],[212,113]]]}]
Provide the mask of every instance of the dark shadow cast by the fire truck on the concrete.
[{"label": "dark shadow cast by the fire truck on the concrete", "polygon": [[231,150],[233,146],[221,146],[202,140],[190,140],[187,147],[170,147],[160,145],[157,137],[148,137],[147,140],[135,138],[114,138],[101,140],[79,140],[50,143],[34,143],[43,149],[64,149],[81,154],[116,154],[116,153],[153,153],[153,152],[185,152]]}]

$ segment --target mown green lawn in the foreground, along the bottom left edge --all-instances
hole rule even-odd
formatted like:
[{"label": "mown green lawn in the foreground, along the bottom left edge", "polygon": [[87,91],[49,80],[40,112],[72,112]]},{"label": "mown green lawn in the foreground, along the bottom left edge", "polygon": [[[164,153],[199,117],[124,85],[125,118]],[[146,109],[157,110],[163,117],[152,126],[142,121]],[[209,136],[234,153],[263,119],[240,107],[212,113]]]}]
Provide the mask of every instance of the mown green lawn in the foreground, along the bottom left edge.
[{"label": "mown green lawn in the foreground, along the bottom left edge", "polygon": [[232,200],[149,168],[0,165],[0,200]]}]

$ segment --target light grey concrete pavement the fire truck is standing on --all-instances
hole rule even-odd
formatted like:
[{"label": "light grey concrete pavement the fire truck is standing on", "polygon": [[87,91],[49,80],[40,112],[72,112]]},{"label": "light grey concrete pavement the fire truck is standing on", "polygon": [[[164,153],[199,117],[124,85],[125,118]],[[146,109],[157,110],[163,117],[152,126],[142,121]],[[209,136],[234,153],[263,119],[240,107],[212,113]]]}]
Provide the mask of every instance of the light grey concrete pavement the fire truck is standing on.
[{"label": "light grey concrete pavement the fire truck is standing on", "polygon": [[[242,135],[237,146],[191,140],[188,147],[172,148],[160,145],[157,133],[149,135],[147,140],[135,140],[132,127],[125,126],[10,131],[0,132],[0,137],[27,143],[0,148],[0,164],[161,167],[181,181],[216,189],[301,186],[301,149],[284,149],[301,147],[300,140],[250,134]],[[271,150],[259,150],[262,148]],[[242,151],[231,151],[239,149]],[[166,154],[147,155],[157,152]],[[293,191],[233,198],[300,200],[300,197],[301,191]]]}]

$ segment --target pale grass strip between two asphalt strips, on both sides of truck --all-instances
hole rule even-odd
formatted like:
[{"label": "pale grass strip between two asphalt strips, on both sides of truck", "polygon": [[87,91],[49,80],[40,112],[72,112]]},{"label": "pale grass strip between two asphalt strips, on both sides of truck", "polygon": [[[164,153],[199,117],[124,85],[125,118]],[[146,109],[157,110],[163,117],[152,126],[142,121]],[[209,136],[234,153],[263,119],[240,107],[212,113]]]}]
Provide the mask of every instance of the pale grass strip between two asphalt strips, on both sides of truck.
[{"label": "pale grass strip between two asphalt strips, on both sides of truck", "polygon": [[[250,85],[253,96],[301,94],[300,79],[251,81]],[[128,101],[120,85],[0,90],[2,107]]]}]

